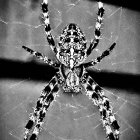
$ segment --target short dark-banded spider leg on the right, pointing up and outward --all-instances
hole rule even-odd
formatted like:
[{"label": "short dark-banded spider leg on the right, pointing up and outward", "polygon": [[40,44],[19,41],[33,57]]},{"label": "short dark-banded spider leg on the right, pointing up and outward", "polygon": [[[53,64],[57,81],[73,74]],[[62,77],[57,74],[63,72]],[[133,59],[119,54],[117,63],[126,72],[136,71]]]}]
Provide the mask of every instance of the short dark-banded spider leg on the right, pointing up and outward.
[{"label": "short dark-banded spider leg on the right, pointing up and outward", "polygon": [[87,68],[87,67],[91,67],[91,66],[94,66],[94,65],[100,63],[100,61],[101,61],[104,57],[110,55],[110,53],[112,52],[112,50],[115,48],[115,45],[116,45],[116,43],[114,42],[107,50],[105,50],[105,51],[104,51],[100,56],[98,56],[95,60],[90,61],[90,62],[87,62],[87,63],[84,63],[84,64],[82,64],[82,65],[83,65],[85,68]]}]

